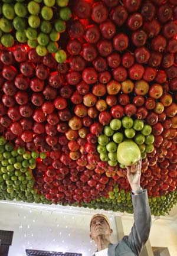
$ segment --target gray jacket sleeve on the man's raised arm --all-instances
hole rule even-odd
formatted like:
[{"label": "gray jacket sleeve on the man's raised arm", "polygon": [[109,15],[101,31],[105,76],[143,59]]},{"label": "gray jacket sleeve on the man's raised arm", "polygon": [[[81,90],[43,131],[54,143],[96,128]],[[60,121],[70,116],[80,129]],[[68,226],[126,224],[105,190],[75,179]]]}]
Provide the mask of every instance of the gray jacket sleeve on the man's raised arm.
[{"label": "gray jacket sleeve on the man's raised arm", "polygon": [[144,189],[142,194],[132,195],[132,203],[134,224],[129,236],[124,236],[124,239],[132,251],[136,255],[139,255],[148,240],[151,226],[151,213],[147,190]]}]

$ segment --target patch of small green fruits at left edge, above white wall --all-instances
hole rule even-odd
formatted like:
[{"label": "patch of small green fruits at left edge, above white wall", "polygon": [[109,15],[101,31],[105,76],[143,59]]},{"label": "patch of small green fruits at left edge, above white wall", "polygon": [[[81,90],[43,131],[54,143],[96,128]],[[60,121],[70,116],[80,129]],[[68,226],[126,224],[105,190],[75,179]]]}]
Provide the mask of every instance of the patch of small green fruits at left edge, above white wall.
[{"label": "patch of small green fruits at left edge, above white wall", "polygon": [[[36,167],[37,158],[44,159],[45,153],[27,152],[25,148],[14,145],[0,137],[0,199],[32,200],[37,195],[32,190],[35,180],[32,169]],[[24,197],[30,193],[29,198]],[[37,195],[38,197],[38,195]]]}]

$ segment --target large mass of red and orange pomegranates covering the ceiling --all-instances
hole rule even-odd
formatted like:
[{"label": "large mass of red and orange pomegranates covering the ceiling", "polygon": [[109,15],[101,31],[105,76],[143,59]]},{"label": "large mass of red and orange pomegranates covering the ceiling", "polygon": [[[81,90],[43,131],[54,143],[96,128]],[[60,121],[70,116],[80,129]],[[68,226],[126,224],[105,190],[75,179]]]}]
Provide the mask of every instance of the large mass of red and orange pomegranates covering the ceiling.
[{"label": "large mass of red and orange pomegranates covering the ceiling", "polygon": [[[74,4],[73,4],[74,5]],[[107,196],[126,171],[97,153],[114,118],[152,126],[154,150],[142,161],[149,196],[176,190],[177,4],[77,0],[66,37],[67,62],[19,45],[0,52],[0,132],[17,147],[47,153],[35,187],[54,203]]]}]

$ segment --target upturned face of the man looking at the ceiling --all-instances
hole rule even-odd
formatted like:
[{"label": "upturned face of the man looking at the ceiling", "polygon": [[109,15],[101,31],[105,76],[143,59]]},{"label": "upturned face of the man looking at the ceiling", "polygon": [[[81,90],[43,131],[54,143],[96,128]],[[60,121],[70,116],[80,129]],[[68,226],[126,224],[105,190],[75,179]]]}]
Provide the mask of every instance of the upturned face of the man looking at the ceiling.
[{"label": "upturned face of the man looking at the ceiling", "polygon": [[100,216],[97,216],[91,221],[90,229],[90,237],[94,240],[98,236],[110,236],[113,232],[107,221]]}]

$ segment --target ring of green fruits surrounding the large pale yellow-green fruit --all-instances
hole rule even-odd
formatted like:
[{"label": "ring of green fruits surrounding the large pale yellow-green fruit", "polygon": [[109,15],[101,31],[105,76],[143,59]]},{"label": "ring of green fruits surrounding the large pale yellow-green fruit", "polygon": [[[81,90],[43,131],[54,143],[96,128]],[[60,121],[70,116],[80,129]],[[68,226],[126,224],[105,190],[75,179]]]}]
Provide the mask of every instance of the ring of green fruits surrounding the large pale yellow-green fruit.
[{"label": "ring of green fruits surrounding the large pale yellow-green fruit", "polygon": [[[143,120],[133,120],[129,116],[120,119],[112,119],[109,125],[106,125],[98,138],[97,152],[100,154],[101,161],[107,161],[110,166],[117,165],[117,146],[125,139],[132,139],[140,148],[142,158],[146,153],[152,153],[153,142],[155,140],[152,127],[144,124]],[[124,168],[121,164],[120,167]]]}]

